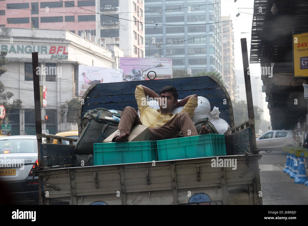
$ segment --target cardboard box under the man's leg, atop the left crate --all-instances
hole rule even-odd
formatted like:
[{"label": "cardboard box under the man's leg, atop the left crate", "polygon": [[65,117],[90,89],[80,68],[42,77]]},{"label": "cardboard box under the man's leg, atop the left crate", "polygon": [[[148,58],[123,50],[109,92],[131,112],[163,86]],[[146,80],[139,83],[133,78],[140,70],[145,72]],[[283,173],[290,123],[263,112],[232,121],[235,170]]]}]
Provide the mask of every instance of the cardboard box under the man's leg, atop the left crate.
[{"label": "cardboard box under the man's leg, atop the left crate", "polygon": [[[107,137],[103,143],[111,143],[112,138],[115,136],[117,131],[112,133],[109,137]],[[128,137],[128,142],[131,141],[148,141],[149,140],[149,128],[145,125],[136,125],[132,127],[130,135]]]}]

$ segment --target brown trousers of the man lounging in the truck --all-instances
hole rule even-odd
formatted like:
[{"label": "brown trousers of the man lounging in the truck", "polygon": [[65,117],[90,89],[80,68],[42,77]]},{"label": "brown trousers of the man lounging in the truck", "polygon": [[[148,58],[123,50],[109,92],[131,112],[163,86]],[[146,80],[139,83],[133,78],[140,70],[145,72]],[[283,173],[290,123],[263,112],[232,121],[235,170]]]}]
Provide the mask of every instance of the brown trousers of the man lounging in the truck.
[{"label": "brown trousers of the man lounging in the truck", "polygon": [[[136,110],[132,107],[124,108],[118,127],[120,134],[130,132],[132,126],[137,124],[142,125]],[[188,113],[179,113],[164,125],[149,128],[149,140],[158,141],[176,138],[180,131],[182,131],[184,137],[198,135],[195,125]],[[116,137],[118,137],[118,135],[113,137],[113,142],[115,142]]]}]

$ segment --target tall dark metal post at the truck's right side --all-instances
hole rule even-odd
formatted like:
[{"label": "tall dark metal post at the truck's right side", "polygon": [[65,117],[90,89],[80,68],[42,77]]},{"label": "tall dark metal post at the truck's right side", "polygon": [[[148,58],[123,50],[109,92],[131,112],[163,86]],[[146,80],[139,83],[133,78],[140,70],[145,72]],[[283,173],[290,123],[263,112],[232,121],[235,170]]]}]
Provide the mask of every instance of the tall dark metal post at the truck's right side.
[{"label": "tall dark metal post at the truck's right side", "polygon": [[258,150],[257,150],[257,142],[256,142],[256,132],[255,132],[255,127],[254,127],[255,122],[254,122],[253,100],[252,100],[252,92],[251,92],[249,61],[248,61],[246,38],[241,38],[241,49],[242,49],[244,79],[245,79],[245,88],[246,88],[248,118],[249,118],[251,135],[252,135],[253,153],[257,154]]}]

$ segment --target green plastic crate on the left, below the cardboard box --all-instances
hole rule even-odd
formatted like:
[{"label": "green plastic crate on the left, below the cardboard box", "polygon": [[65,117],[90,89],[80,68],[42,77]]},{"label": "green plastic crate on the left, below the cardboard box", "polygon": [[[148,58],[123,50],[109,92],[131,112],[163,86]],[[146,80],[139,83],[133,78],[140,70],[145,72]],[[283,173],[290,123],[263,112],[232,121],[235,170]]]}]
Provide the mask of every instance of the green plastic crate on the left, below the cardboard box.
[{"label": "green plastic crate on the left, below the cardboard box", "polygon": [[158,161],[156,141],[96,143],[94,165]]}]

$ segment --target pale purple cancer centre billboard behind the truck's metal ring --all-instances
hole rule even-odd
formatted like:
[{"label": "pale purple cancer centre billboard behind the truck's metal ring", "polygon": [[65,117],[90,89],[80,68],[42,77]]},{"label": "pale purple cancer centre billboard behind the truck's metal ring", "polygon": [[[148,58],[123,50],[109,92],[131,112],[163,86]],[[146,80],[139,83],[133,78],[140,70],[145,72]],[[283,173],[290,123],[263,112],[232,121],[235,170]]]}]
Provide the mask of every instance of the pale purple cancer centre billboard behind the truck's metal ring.
[{"label": "pale purple cancer centre billboard behind the truck's metal ring", "polygon": [[[148,80],[147,74],[155,71],[155,79],[172,78],[172,59],[120,57],[120,69],[123,69],[123,81]],[[154,73],[149,73],[154,78]]]}]

